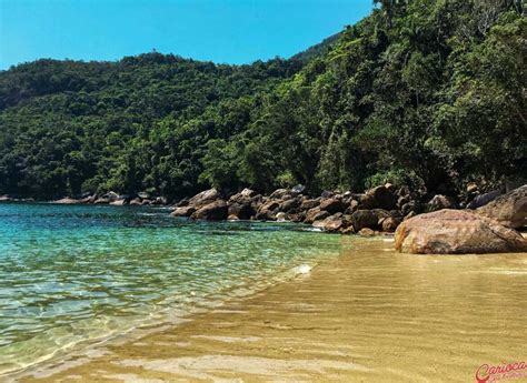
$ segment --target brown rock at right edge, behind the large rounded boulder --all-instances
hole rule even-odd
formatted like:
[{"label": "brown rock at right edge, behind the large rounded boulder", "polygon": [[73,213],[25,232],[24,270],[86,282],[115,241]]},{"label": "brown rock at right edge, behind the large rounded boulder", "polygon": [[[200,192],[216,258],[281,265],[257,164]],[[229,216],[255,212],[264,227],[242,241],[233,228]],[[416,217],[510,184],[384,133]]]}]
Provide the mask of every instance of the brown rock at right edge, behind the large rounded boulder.
[{"label": "brown rock at right edge, behind the large rounded boulder", "polygon": [[527,226],[527,184],[498,196],[476,211],[508,228]]}]

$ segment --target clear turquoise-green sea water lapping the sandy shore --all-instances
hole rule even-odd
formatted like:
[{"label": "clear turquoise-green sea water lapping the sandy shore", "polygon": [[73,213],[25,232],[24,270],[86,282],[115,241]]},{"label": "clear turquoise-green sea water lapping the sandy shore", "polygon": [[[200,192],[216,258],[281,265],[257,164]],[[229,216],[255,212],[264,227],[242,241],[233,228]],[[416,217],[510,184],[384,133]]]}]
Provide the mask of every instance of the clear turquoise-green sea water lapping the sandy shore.
[{"label": "clear turquoise-green sea water lapping the sandy shore", "polygon": [[0,204],[0,374],[248,294],[338,251],[300,225]]}]

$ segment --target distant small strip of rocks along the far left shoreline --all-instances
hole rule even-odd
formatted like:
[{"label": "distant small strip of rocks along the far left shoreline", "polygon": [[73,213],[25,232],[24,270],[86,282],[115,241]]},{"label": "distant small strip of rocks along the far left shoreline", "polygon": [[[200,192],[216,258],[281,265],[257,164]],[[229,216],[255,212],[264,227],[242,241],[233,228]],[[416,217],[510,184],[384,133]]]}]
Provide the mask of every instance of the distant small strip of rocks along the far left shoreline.
[{"label": "distant small strip of rocks along the far left shoreline", "polygon": [[59,204],[110,204],[115,206],[148,206],[148,205],[166,205],[168,203],[167,199],[163,196],[151,198],[148,193],[139,193],[138,195],[120,195],[116,192],[108,192],[102,195],[83,195],[80,199],[73,198],[63,198],[52,203]]}]

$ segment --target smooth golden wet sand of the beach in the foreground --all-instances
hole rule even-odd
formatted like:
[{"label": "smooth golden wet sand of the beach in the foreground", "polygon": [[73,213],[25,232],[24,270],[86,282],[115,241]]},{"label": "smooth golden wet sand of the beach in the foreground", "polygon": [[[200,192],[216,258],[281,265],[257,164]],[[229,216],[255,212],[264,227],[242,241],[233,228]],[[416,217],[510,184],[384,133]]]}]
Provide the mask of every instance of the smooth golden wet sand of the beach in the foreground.
[{"label": "smooth golden wet sand of the beach in the foreground", "polygon": [[309,274],[20,380],[474,382],[484,363],[527,359],[526,253],[392,246],[342,236]]}]

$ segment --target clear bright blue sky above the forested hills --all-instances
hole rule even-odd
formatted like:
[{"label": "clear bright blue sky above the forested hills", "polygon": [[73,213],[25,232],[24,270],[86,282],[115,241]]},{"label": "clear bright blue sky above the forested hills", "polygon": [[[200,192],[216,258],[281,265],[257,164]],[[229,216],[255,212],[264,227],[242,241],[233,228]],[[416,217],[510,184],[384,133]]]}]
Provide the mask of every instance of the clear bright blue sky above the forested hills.
[{"label": "clear bright blue sky above the forested hills", "polygon": [[371,8],[372,0],[0,0],[0,70],[152,50],[218,63],[288,58]]}]

